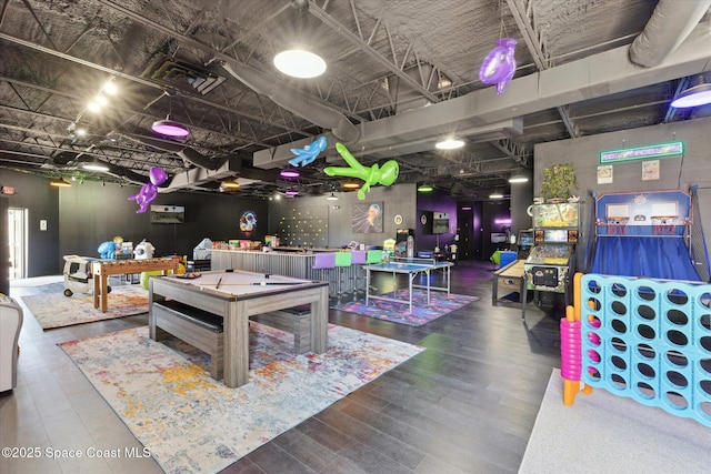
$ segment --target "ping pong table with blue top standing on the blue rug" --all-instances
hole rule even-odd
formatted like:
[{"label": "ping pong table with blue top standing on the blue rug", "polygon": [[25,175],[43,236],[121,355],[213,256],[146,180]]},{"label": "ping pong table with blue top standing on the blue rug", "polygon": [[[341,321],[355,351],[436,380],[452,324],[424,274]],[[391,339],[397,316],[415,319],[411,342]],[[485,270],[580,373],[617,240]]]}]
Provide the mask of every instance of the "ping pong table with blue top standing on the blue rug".
[{"label": "ping pong table with blue top standing on the blue rug", "polygon": [[[365,270],[365,305],[370,304],[370,300],[383,300],[392,301],[395,303],[408,304],[410,313],[412,313],[412,289],[427,290],[427,304],[430,304],[430,291],[445,291],[447,296],[450,294],[450,269],[453,265],[452,262],[438,262],[433,259],[392,259],[389,262],[373,263],[364,265]],[[444,275],[445,284],[443,286],[435,286],[431,283],[431,274],[434,271],[442,271]],[[373,295],[370,294],[370,282],[372,272],[392,273],[392,296]],[[398,297],[398,274],[404,274],[408,276],[408,299]],[[425,276],[425,284],[415,284],[414,279],[419,275]]]}]

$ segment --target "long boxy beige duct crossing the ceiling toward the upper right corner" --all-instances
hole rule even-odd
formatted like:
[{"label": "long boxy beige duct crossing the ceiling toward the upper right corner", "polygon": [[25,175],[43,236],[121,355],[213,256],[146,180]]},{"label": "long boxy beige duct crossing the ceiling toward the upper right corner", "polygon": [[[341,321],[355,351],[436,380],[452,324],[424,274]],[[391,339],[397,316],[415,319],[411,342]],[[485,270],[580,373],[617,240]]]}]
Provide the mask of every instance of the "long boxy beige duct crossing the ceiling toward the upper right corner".
[{"label": "long boxy beige duct crossing the ceiling toward the upper right corner", "polygon": [[[629,60],[629,48],[613,50],[558,65],[545,71],[512,80],[505,93],[499,95],[493,88],[470,92],[447,102],[413,109],[362,124],[362,140],[367,149],[387,147],[432,137],[435,132],[487,127],[548,109],[583,100],[605,97],[642,88],[660,81],[711,70],[708,44],[711,30],[700,24],[687,40],[659,65],[640,68]],[[504,137],[499,137],[503,139]],[[289,149],[303,148],[304,142],[279,145],[254,153],[254,165],[271,168],[279,158],[288,157]],[[263,155],[262,161],[260,157]]]}]

